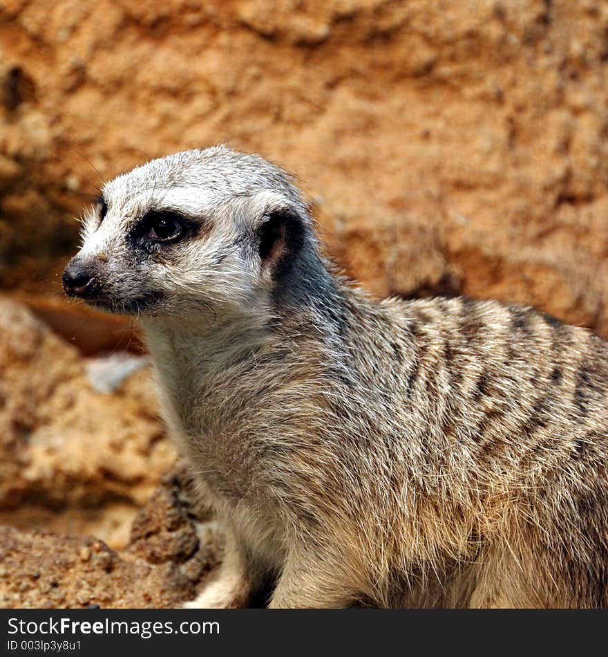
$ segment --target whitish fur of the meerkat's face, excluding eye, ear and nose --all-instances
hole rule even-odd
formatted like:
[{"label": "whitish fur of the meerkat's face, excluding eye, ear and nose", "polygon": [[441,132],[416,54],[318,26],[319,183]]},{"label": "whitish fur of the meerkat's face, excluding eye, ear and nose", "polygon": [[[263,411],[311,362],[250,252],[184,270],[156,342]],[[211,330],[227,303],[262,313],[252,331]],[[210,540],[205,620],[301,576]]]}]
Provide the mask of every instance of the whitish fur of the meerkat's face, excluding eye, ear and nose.
[{"label": "whitish fur of the meerkat's face, excluding eye, ear and nose", "polygon": [[[117,312],[179,315],[210,308],[234,315],[259,309],[267,301],[267,281],[253,248],[256,228],[278,207],[307,216],[285,172],[226,147],[152,160],[104,185],[102,194],[106,216],[100,221],[97,210],[86,214],[77,258],[95,268],[103,306]],[[155,248],[134,244],[137,224],[159,211],[185,216],[196,229]]]}]

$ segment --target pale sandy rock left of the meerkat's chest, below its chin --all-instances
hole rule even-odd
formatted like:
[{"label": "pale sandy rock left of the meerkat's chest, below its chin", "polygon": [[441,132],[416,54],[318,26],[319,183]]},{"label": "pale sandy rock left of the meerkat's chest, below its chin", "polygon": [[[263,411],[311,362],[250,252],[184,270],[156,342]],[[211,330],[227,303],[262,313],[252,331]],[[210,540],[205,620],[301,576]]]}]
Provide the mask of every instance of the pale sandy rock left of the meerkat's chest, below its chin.
[{"label": "pale sandy rock left of the meerkat's chest, below its chin", "polygon": [[95,359],[0,299],[0,524],[124,545],[175,450],[149,367],[111,389],[106,379]]}]

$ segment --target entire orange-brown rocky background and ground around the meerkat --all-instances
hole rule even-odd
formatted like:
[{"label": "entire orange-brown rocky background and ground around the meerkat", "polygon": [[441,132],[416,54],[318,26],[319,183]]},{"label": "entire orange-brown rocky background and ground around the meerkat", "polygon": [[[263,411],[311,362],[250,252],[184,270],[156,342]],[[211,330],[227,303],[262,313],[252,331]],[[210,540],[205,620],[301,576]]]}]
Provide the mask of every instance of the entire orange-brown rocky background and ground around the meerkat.
[{"label": "entire orange-brown rocky background and ground around the meerkat", "polygon": [[103,179],[257,151],[374,293],[608,335],[607,83],[600,0],[4,0],[0,605],[174,606],[221,557],[131,324],[61,295]]}]

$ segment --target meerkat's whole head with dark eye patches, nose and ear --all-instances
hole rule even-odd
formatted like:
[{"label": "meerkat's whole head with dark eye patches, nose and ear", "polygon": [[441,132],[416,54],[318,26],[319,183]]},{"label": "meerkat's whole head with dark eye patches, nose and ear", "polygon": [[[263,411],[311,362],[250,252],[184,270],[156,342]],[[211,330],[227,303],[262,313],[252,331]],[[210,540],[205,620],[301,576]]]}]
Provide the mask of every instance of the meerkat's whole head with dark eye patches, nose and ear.
[{"label": "meerkat's whole head with dark eye patches, nose and ear", "polygon": [[312,219],[289,176],[223,146],[118,176],[83,225],[64,289],[113,313],[242,313],[272,302],[287,277],[301,286],[297,263],[317,254]]}]

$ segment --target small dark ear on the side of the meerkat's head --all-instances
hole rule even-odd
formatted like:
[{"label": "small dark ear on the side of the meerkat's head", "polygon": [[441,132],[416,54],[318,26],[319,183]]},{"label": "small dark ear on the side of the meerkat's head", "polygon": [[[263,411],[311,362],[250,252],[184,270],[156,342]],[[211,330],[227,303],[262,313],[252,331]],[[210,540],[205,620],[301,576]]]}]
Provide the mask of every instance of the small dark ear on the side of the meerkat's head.
[{"label": "small dark ear on the side of the meerkat's head", "polygon": [[281,277],[291,268],[304,241],[304,222],[291,207],[273,210],[258,227],[258,250],[263,268]]}]

